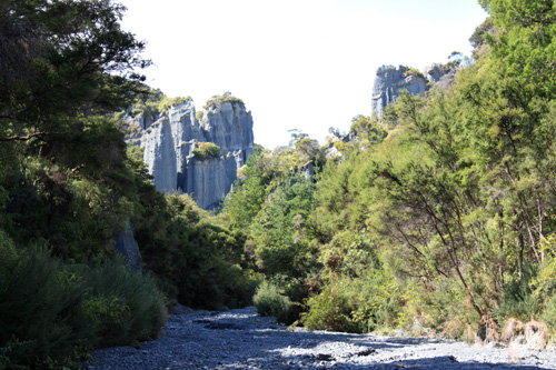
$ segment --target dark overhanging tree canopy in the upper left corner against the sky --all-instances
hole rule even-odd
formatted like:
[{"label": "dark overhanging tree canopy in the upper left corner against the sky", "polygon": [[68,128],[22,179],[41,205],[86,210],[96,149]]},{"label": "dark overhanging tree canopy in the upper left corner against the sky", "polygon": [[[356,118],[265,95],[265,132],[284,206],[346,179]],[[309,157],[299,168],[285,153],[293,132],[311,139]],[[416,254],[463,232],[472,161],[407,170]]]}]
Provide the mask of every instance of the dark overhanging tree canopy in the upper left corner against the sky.
[{"label": "dark overhanging tree canopy in the upper left corner against the sky", "polygon": [[[126,107],[149,64],[110,0],[8,0],[0,6],[0,141],[54,140],[79,114]],[[40,144],[39,144],[40,148]]]}]

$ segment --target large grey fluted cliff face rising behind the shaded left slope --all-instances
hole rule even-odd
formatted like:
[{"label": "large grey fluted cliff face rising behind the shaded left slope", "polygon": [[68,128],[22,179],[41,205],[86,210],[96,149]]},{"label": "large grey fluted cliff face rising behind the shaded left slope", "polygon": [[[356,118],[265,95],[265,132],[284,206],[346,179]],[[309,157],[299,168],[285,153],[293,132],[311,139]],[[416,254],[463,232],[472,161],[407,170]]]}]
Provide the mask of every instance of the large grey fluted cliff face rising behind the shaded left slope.
[{"label": "large grey fluted cliff face rising behind the shaded left slope", "polygon": [[[145,149],[157,189],[190,193],[207,210],[226,197],[252,153],[252,117],[241,103],[214,103],[199,121],[192,101],[183,101],[151,123],[138,119],[138,126],[128,142]],[[198,160],[193,149],[201,142],[216,143],[221,157]]]}]

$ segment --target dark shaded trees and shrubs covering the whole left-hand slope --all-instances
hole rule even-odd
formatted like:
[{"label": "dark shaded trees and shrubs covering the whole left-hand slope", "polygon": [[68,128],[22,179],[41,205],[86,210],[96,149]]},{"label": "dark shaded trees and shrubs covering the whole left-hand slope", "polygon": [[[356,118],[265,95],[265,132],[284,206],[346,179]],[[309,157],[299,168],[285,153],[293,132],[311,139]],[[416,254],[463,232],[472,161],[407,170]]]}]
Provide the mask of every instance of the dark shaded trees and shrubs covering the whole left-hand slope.
[{"label": "dark shaded trees and shrubs covering the whole left-hand slope", "polygon": [[[156,338],[167,307],[249,303],[240,239],[163,196],[120,112],[172,100],[142,83],[143,43],[97,0],[0,4],[0,368],[80,368],[95,347]],[[145,97],[162,102],[145,104]],[[142,103],[142,104],[141,104]],[[143,274],[115,252],[127,226]]]}]

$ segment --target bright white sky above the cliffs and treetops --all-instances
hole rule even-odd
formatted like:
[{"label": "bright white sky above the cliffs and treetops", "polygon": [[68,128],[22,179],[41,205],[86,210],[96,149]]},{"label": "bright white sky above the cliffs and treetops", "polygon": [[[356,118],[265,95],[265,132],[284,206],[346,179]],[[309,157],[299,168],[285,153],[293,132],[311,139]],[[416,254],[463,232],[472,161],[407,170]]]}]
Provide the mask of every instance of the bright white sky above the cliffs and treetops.
[{"label": "bright white sky above the cliffs and treetops", "polygon": [[288,144],[297,129],[322,142],[370,114],[383,64],[424,70],[487,17],[477,0],[119,0],[122,28],[147,42],[147,83],[192,97],[197,110],[226,91],[244,100],[255,142]]}]

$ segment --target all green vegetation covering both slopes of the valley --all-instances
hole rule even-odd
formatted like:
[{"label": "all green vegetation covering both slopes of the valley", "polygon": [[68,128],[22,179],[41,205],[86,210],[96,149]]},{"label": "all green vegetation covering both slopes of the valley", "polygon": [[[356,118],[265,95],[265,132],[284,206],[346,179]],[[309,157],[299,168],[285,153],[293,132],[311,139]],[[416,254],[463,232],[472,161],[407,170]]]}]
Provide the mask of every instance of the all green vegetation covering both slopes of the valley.
[{"label": "all green vegetation covering both slopes of the valley", "polygon": [[[479,2],[492,17],[453,83],[354,118],[336,159],[297,130],[257,147],[214,214],[156,191],[123,141],[122,107],[153,119],[189,99],[142,83],[123,9],[3,1],[0,368],[79,368],[91,348],[156,338],[177,302],[459,339],[535,319],[554,339],[556,10]],[[207,107],[221,102],[242,104]],[[142,273],[113,250],[128,224]]]}]

